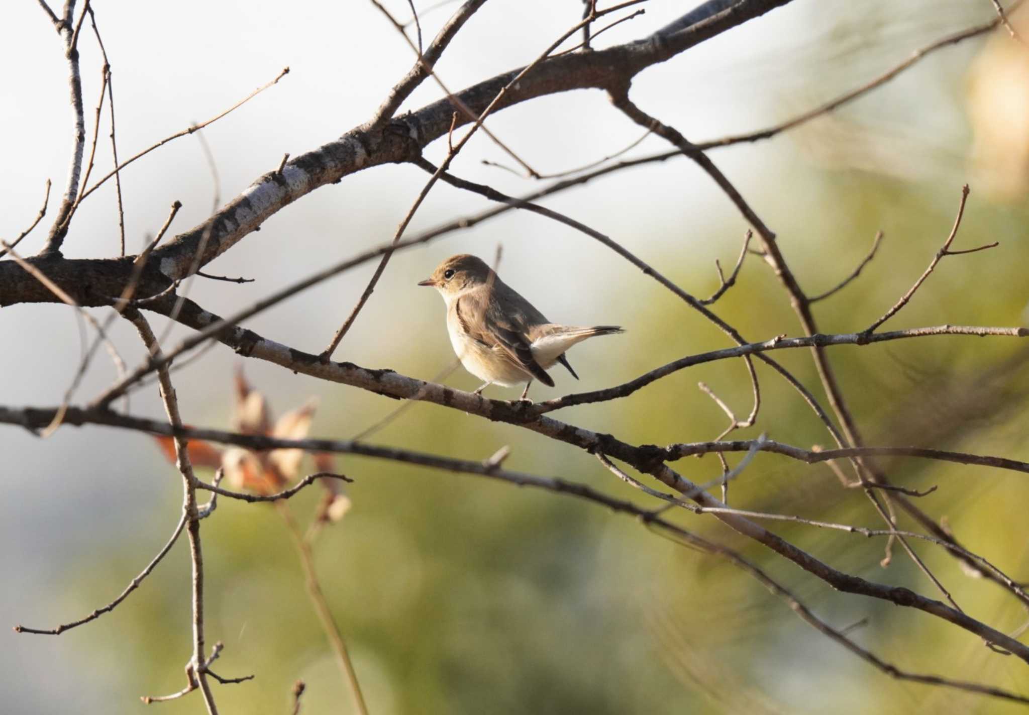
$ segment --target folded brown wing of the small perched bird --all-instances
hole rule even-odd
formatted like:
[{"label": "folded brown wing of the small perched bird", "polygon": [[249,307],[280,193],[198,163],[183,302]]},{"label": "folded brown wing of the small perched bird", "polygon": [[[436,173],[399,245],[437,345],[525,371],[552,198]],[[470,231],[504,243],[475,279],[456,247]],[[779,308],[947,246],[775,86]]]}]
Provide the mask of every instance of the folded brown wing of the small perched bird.
[{"label": "folded brown wing of the small perched bird", "polygon": [[532,356],[522,315],[507,315],[486,291],[470,290],[461,295],[455,305],[461,328],[474,341],[483,344],[503,360],[509,361],[547,387],[554,380]]}]

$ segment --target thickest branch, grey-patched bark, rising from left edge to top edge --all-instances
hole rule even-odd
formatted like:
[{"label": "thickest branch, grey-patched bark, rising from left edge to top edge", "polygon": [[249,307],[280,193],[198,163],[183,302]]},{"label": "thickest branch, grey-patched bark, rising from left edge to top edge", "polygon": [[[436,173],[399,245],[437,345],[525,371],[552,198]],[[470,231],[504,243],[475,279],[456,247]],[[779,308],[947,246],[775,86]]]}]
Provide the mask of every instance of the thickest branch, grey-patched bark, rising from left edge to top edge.
[{"label": "thickest branch, grey-patched bark, rising from left edge to top edge", "polygon": [[[740,0],[732,7],[670,35],[659,33],[603,50],[551,58],[520,80],[517,87],[504,93],[492,111],[537,97],[573,90],[625,86],[633,76],[647,67],[666,62],[705,40],[789,2],[791,0]],[[520,72],[521,70],[512,70],[497,75],[457,93],[455,97],[473,112],[481,114]],[[248,234],[259,228],[269,217],[314,189],[335,183],[357,171],[418,156],[422,147],[450,132],[453,114],[451,100],[443,98],[404,115],[398,120],[399,123],[387,123],[384,128],[376,129],[372,121],[355,128],[335,141],[292,158],[281,172],[263,175],[210,219],[180,234],[154,251],[152,262],[155,271],[152,279],[161,287],[153,292],[159,292],[167,288],[170,281],[187,275],[205,233],[209,234],[209,239],[200,255],[198,267],[214,260]],[[469,119],[459,113],[457,126],[463,126],[467,121]],[[398,128],[404,131],[397,131]],[[39,260],[43,260],[43,257]],[[51,270],[47,271],[48,275],[55,276],[59,283],[67,276],[72,286],[65,288],[73,295],[82,292],[84,285],[97,285],[90,281],[91,277],[106,279],[103,281],[106,285],[110,285],[111,279],[114,279],[120,285],[108,294],[118,294],[128,278],[123,259],[75,261],[67,267],[51,262],[49,267]],[[79,278],[72,280],[73,276]],[[0,306],[52,300],[41,293],[26,291],[25,288],[26,283],[21,279],[17,267],[0,262]],[[93,300],[99,298],[94,296]],[[79,302],[98,305],[81,299]]]}]

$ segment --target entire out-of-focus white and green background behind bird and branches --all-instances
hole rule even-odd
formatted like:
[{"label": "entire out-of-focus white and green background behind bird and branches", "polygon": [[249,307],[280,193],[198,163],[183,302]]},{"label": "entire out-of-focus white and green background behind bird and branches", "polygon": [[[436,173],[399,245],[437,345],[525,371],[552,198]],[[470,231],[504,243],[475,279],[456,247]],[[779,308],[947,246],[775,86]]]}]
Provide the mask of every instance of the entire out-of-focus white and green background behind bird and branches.
[{"label": "entire out-of-focus white and green background behind bird and branches", "polygon": [[[405,2],[386,3],[397,17]],[[696,4],[696,3],[695,3]],[[419,2],[420,8],[430,3]],[[364,2],[94,3],[110,58],[119,155],[203,121],[274,78],[275,87],[204,134],[216,159],[212,178],[196,137],[184,137],[122,173],[126,234],[137,252],[179,200],[172,233],[210,214],[284,152],[298,155],[366,120],[413,63],[395,30]],[[455,5],[422,15],[425,41]],[[683,12],[653,0],[646,14],[614,28],[597,46],[643,37]],[[21,246],[36,252],[66,180],[70,122],[61,42],[36,3],[6,3],[0,22],[0,237],[17,236],[36,215],[47,178],[51,213]],[[578,22],[572,0],[493,0],[474,15],[437,65],[452,87],[518,67]],[[965,0],[796,0],[642,73],[632,97],[694,141],[764,128],[857,86],[949,33],[989,22],[989,2]],[[1019,24],[1029,37],[1029,25]],[[578,40],[576,39],[575,42]],[[569,43],[573,44],[573,43]],[[101,60],[92,34],[80,40],[86,117],[100,92]],[[947,236],[960,187],[971,196],[955,248],[992,241],[992,251],[945,259],[887,327],[942,323],[1022,325],[1026,287],[1029,180],[1029,50],[1006,32],[934,53],[891,83],[839,112],[772,141],[712,152],[765,221],[802,285],[821,292],[885,234],[861,278],[817,305],[825,332],[862,329],[922,273]],[[437,99],[426,81],[405,104]],[[107,110],[99,168],[110,166]],[[490,129],[538,172],[565,171],[613,153],[640,136],[600,92],[547,97],[504,110]],[[647,137],[629,156],[664,151]],[[438,162],[442,143],[426,155]],[[509,163],[480,133],[453,171],[521,194],[532,180],[484,166]],[[279,212],[258,234],[207,266],[255,279],[245,285],[196,281],[190,297],[227,315],[328,263],[388,241],[427,176],[409,166],[360,172]],[[111,182],[112,183],[112,182]],[[82,205],[65,254],[117,253],[117,213],[109,183]],[[718,286],[713,261],[733,264],[746,228],[716,187],[687,160],[671,159],[591,182],[546,201],[611,236],[697,295]],[[409,235],[489,205],[438,185]],[[556,321],[613,323],[624,336],[584,344],[545,399],[631,380],[687,354],[729,345],[713,326],[611,251],[570,228],[516,212],[395,255],[368,306],[335,353],[369,367],[430,379],[453,360],[443,305],[415,287],[448,255],[492,256],[500,274]],[[317,353],[349,313],[371,263],[280,303],[247,323],[261,334]],[[719,315],[751,339],[797,334],[789,301],[759,258],[747,258]],[[97,312],[103,316],[103,311]],[[150,316],[155,327],[164,319]],[[123,321],[121,321],[123,322]],[[172,330],[174,344],[188,331]],[[64,306],[0,311],[0,404],[60,402],[79,360],[76,318]],[[130,365],[141,359],[131,327],[113,336]],[[862,430],[873,443],[917,443],[1029,459],[1023,410],[1029,381],[1012,338],[930,337],[832,349],[831,358]],[[776,355],[807,385],[817,377],[807,352]],[[227,428],[233,373],[241,359],[217,346],[177,373],[186,422]],[[277,415],[311,397],[313,436],[350,437],[396,405],[258,361],[247,378]],[[777,440],[828,444],[788,386],[758,368],[758,424]],[[113,377],[99,355],[77,392],[83,402]],[[725,417],[698,388],[704,381],[739,415],[750,386],[739,361],[678,372],[612,403],[562,410],[558,419],[634,442],[713,438]],[[449,384],[473,389],[463,370]],[[815,390],[821,396],[820,390]],[[513,390],[488,394],[513,398]],[[133,414],[161,417],[156,389],[137,392]],[[481,460],[502,445],[505,466],[560,476],[648,504],[590,455],[504,424],[416,404],[370,441]],[[107,603],[164,544],[178,519],[180,478],[151,438],[132,432],[63,427],[46,440],[0,428],[0,621],[50,628]],[[733,462],[738,456],[733,458]],[[720,473],[713,457],[686,460],[683,473]],[[1029,577],[1025,475],[899,460],[896,482],[938,485],[919,504],[947,522],[965,545],[1016,580]],[[781,601],[726,564],[648,533],[588,503],[507,485],[358,458],[341,458],[353,477],[343,520],[315,545],[316,565],[346,635],[369,709],[386,713],[844,713],[1015,712],[966,693],[899,683],[800,621]],[[313,471],[313,468],[312,468]],[[205,475],[210,478],[210,473]],[[301,525],[315,491],[289,502]],[[733,486],[740,508],[881,527],[859,491],[843,490],[824,465],[761,455]],[[710,516],[673,514],[767,568],[814,611],[899,668],[983,680],[1029,691],[1025,664],[1002,657],[966,632],[925,614],[832,592]],[[883,568],[884,543],[796,525],[777,533],[833,566],[935,598],[901,552]],[[901,519],[901,527],[912,525]],[[286,712],[303,679],[304,712],[350,712],[346,686],[307,599],[281,515],[267,505],[221,500],[204,522],[208,640],[225,650],[217,671],[255,674],[215,686],[222,712]],[[917,546],[962,608],[1012,631],[1025,619],[1015,599],[967,577],[958,563]],[[189,579],[185,539],[113,613],[60,637],[0,629],[0,691],[11,713],[137,712],[143,694],[182,687],[189,657]],[[197,712],[196,693],[153,706]]]}]

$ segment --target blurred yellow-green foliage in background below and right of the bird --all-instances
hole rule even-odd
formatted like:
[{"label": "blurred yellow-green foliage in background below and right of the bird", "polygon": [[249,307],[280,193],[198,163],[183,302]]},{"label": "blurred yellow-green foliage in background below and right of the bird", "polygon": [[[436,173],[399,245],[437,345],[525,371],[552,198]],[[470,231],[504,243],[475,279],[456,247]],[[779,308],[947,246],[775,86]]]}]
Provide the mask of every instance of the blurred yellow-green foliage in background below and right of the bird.
[{"label": "blurred yellow-green foliage in background below and right of the bird", "polygon": [[[884,312],[924,270],[950,228],[958,192],[884,185],[858,174],[841,173],[830,182],[822,192],[831,196],[831,233],[811,230],[804,215],[783,215],[773,223],[812,292],[839,281],[864,255],[875,231],[886,231],[861,278],[817,305],[823,331],[854,331]],[[941,199],[945,193],[948,201]],[[956,247],[994,239],[1001,247],[946,258],[884,327],[1019,324],[1026,300],[1025,263],[1019,258],[1026,218],[1024,212],[977,202],[973,194]],[[716,249],[728,262],[738,246]],[[680,261],[673,251],[661,264],[697,293],[713,289],[713,271],[704,269],[704,261],[689,261],[688,267]],[[630,326],[631,342],[612,338],[604,346],[610,360],[596,367],[593,384],[631,379],[663,361],[654,355],[671,359],[726,345],[660,287],[644,288],[640,297],[645,309]],[[739,284],[716,309],[752,339],[797,331],[783,291],[756,256],[748,256]],[[1018,349],[1010,338],[926,337],[833,348],[830,356],[870,441],[1027,459],[1021,404],[1029,382],[1021,363],[1003,373],[1002,389],[977,382]],[[817,385],[807,351],[780,351],[775,357],[805,384]],[[422,373],[432,373],[448,359],[445,352],[427,354]],[[804,446],[828,445],[797,395],[764,366],[758,370],[760,420],[741,436],[764,431]],[[629,441],[708,439],[725,418],[696,383],[707,382],[745,414],[751,399],[745,374],[739,361],[702,365],[615,403],[555,417]],[[451,382],[467,387],[469,380],[460,376]],[[227,403],[227,378],[225,384]],[[566,381],[559,385],[573,387]],[[323,390],[316,435],[355,433],[394,406],[349,388]],[[821,399],[821,391],[815,392]],[[296,402],[306,397],[297,394]],[[281,412],[292,405],[275,406]],[[505,466],[648,503],[589,455],[431,404],[415,405],[372,439],[469,459],[509,444]],[[154,464],[159,460],[155,449]],[[938,485],[920,505],[946,516],[969,548],[1016,579],[1025,578],[1026,540],[1012,538],[1012,530],[1025,524],[1024,475],[915,460],[885,465],[897,484]],[[676,467],[699,481],[719,473],[713,457]],[[1015,712],[998,701],[895,682],[809,629],[745,574],[594,505],[388,462],[343,458],[341,468],[356,479],[348,491],[353,508],[322,533],[315,546],[317,568],[374,713],[816,713],[829,704],[842,713]],[[307,521],[317,498],[311,491],[289,505]],[[757,457],[732,485],[730,498],[740,508],[882,526],[860,491],[841,489],[824,465],[807,467],[774,455]],[[61,608],[85,610],[107,600],[110,584],[126,581],[149,558],[156,535],[171,526],[157,515],[174,513],[178,499],[169,488],[166,503],[154,506],[152,534],[125,539],[113,546],[112,559],[91,560],[81,573],[71,574],[80,586],[63,597]],[[902,669],[1025,690],[1024,664],[992,653],[963,631],[919,612],[836,594],[710,516],[673,517],[740,549],[830,623],[844,627],[866,617],[868,624],[855,639]],[[880,566],[883,540],[795,524],[769,526],[838,568],[934,594],[899,547],[888,568]],[[902,515],[900,526],[912,527]],[[308,685],[304,712],[350,712],[280,515],[267,505],[222,499],[203,523],[203,533],[208,638],[225,643],[216,670],[226,677],[257,676],[246,684],[216,686],[223,712],[287,712],[297,678]],[[1001,629],[1024,619],[1013,598],[966,577],[942,549],[915,547],[971,615]],[[92,624],[88,637],[72,647],[98,668],[116,668],[122,693],[174,691],[182,685],[188,656],[187,614],[187,559],[180,543],[139,594]],[[190,696],[153,707],[176,713],[197,712],[200,705]],[[112,698],[109,712],[137,708]]]}]

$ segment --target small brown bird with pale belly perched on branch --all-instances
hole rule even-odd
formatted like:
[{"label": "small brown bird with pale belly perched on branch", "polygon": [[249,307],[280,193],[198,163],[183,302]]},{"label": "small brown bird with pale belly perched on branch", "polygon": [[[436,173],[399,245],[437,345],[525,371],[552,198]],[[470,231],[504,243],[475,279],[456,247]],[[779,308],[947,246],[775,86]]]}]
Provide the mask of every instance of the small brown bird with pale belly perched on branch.
[{"label": "small brown bird with pale belly perched on branch", "polygon": [[486,261],[468,253],[451,256],[430,278],[419,281],[439,291],[447,303],[447,331],[464,368],[490,385],[517,387],[525,383],[520,401],[530,401],[529,386],[538,380],[554,387],[546,370],[560,362],[575,380],[565,352],[595,335],[625,330],[617,325],[580,327],[552,323],[500,280]]}]

